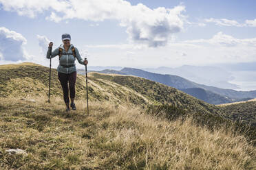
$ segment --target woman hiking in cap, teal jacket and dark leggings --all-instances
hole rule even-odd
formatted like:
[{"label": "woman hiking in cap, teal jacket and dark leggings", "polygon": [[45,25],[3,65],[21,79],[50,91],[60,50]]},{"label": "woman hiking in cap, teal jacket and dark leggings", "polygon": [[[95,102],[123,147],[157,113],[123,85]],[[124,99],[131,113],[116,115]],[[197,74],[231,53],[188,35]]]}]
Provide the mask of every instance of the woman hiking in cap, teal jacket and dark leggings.
[{"label": "woman hiking in cap, teal jacket and dark leggings", "polygon": [[[66,111],[70,111],[70,107],[72,110],[76,110],[76,105],[74,104],[75,97],[75,84],[76,84],[76,64],[75,60],[77,58],[80,64],[86,65],[88,64],[87,60],[83,60],[79,54],[79,51],[74,45],[70,44],[71,36],[70,34],[63,34],[61,36],[63,45],[60,45],[58,48],[52,51],[53,43],[50,42],[48,51],[46,54],[46,58],[54,58],[55,56],[59,56],[59,64],[58,64],[58,80],[61,82],[61,86],[63,89],[63,99],[67,106]],[[52,54],[52,55],[51,55]],[[69,82],[69,87],[67,86],[67,82]],[[70,90],[70,98],[69,98],[69,90]],[[71,99],[71,104],[70,104]]]}]

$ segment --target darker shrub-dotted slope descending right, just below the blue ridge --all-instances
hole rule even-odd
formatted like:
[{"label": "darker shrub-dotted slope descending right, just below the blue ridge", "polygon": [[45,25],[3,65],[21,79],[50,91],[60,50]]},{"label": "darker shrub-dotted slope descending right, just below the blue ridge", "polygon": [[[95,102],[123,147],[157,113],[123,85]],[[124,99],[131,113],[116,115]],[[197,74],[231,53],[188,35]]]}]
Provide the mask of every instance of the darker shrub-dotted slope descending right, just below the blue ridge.
[{"label": "darker shrub-dotted slope descending right, just below the blue ridge", "polygon": [[220,113],[220,108],[196,99],[176,88],[171,88],[158,82],[153,82],[141,77],[127,75],[109,75],[102,73],[91,73],[100,80],[110,80],[136,92],[147,96],[148,99],[158,101],[160,104],[172,104],[173,106],[189,110],[191,112],[202,112],[204,114]]}]

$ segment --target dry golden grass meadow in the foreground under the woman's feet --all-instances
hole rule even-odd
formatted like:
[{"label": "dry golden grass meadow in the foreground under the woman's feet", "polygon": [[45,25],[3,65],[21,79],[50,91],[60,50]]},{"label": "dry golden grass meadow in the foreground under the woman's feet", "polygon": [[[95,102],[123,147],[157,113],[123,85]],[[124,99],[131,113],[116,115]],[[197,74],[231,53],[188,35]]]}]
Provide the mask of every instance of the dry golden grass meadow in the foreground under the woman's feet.
[{"label": "dry golden grass meadow in the foreground under the woman's feet", "polygon": [[[256,169],[256,149],[233,130],[210,132],[134,106],[0,99],[0,169]],[[8,155],[6,149],[28,155]]]}]

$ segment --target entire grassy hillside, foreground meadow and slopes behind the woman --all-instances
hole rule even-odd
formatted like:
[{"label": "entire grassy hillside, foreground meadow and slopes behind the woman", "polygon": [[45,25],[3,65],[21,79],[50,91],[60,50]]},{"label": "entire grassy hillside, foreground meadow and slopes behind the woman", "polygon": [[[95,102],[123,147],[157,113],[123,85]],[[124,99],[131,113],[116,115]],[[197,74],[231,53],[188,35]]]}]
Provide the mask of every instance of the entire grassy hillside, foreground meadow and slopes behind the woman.
[{"label": "entire grassy hillside, foreground meadow and slopes behind the woman", "polygon": [[1,169],[256,169],[256,130],[175,88],[89,73],[87,115],[78,75],[77,110],[68,114],[56,70],[50,104],[49,68],[22,63],[0,71]]}]

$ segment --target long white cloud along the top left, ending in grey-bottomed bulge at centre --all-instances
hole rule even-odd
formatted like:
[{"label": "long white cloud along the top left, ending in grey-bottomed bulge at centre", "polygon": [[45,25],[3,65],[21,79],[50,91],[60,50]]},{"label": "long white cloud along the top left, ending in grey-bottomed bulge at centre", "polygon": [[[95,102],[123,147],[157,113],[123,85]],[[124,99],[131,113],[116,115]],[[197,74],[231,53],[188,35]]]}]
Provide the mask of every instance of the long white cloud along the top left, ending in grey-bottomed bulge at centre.
[{"label": "long white cloud along the top left, ending in grey-bottomed bulge at centre", "polygon": [[20,15],[30,17],[50,10],[52,13],[46,19],[55,22],[67,19],[115,19],[120,21],[120,26],[127,27],[131,42],[146,44],[149,47],[167,45],[171,35],[180,32],[184,25],[183,5],[173,9],[151,9],[142,3],[131,5],[125,0],[0,0],[0,3],[4,10],[16,11]]}]

